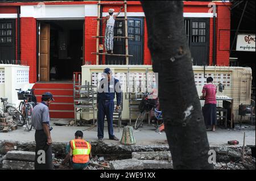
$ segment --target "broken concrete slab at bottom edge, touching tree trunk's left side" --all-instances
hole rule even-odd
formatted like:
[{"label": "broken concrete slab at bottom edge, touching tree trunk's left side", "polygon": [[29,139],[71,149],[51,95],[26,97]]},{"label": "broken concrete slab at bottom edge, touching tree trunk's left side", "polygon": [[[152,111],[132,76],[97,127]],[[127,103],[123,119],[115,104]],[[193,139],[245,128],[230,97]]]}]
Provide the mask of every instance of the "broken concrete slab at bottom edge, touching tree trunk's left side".
[{"label": "broken concrete slab at bottom edge, touching tree trunk's left side", "polygon": [[144,169],[174,169],[172,162],[163,160],[140,160],[143,163]]}]

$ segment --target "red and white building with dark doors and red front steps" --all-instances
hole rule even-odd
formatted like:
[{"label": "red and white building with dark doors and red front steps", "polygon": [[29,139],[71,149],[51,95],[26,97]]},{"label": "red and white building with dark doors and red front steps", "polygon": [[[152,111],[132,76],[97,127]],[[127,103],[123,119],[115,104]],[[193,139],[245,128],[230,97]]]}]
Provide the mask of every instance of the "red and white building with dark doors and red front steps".
[{"label": "red and white building with dark doors and red front steps", "polygon": [[[73,117],[72,82],[68,81],[73,72],[81,71],[81,65],[96,64],[96,54],[92,54],[96,52],[96,38],[92,36],[97,34],[97,3],[0,3],[0,61],[22,60],[30,66],[29,80],[35,83],[36,94],[50,90],[57,95],[52,117]],[[230,6],[228,1],[184,1],[184,23],[194,65],[229,66]],[[108,9],[116,13],[120,7],[102,5],[102,17],[108,15]],[[150,65],[147,22],[139,1],[127,2],[127,16],[128,36],[134,37],[129,39],[129,54],[133,54],[129,64]],[[123,10],[119,18],[124,18]],[[116,20],[115,36],[125,35],[124,25],[123,20]],[[104,32],[102,25],[101,36]],[[114,53],[125,54],[124,39],[114,39]],[[100,56],[99,62],[123,65],[125,57]],[[51,74],[52,66],[56,67],[55,75]]]}]

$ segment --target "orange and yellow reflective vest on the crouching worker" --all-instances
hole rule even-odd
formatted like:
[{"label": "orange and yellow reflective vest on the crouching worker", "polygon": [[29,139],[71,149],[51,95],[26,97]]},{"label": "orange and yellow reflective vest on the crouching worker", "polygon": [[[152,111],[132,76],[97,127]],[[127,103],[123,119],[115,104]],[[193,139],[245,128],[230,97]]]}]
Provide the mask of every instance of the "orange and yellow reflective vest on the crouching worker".
[{"label": "orange and yellow reflective vest on the crouching worker", "polygon": [[75,139],[70,141],[70,145],[73,150],[72,160],[74,163],[87,163],[89,161],[91,149],[89,142],[82,139]]}]

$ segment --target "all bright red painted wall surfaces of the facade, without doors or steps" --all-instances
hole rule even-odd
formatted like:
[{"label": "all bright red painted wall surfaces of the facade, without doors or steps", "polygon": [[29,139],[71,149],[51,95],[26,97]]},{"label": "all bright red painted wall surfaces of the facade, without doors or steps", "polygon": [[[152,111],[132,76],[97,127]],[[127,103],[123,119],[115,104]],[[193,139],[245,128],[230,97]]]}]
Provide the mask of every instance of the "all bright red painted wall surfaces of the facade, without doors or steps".
[{"label": "all bright red painted wall surfaces of the facade, without doors or steps", "polygon": [[[52,4],[48,2],[47,4]],[[97,2],[65,2],[65,4],[88,4]],[[184,2],[184,12],[208,12],[209,2]],[[0,3],[0,13],[16,14],[16,6],[19,3]],[[56,4],[64,4],[64,2],[56,2]],[[140,2],[129,1],[127,3],[128,12],[143,12]],[[23,5],[32,5],[32,3],[23,3]],[[229,65],[229,39],[230,39],[230,10],[224,3],[218,3],[217,5],[217,19],[216,19],[216,32],[217,32],[217,52],[216,61],[217,65]],[[229,4],[226,4],[229,5]],[[114,8],[115,12],[118,12],[120,5],[104,6],[103,12],[108,12],[109,8]],[[123,10],[122,10],[123,12]],[[84,40],[84,60],[91,61],[91,64],[96,64],[96,36],[97,33],[97,17],[86,16],[85,17],[85,40]],[[212,51],[213,51],[213,18],[209,18],[209,64],[212,65]],[[21,59],[30,66],[30,82],[36,82],[36,19],[34,18],[20,18],[20,49]],[[151,64],[151,55],[147,47],[148,32],[147,23],[144,19],[144,64]],[[102,28],[102,35],[105,32],[105,25]],[[16,24],[16,39],[17,39],[17,24]],[[102,42],[104,44],[104,41]],[[17,46],[17,40],[16,40]],[[17,48],[16,48],[17,50]],[[17,52],[16,52],[17,57]],[[103,64],[105,64],[105,56],[103,57]]]}]

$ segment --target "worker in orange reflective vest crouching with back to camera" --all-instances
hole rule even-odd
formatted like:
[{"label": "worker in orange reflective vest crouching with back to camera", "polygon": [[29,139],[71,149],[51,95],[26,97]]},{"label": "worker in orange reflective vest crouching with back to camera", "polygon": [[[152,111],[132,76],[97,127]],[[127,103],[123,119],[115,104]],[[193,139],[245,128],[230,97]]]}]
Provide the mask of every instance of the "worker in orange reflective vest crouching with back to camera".
[{"label": "worker in orange reflective vest crouching with back to camera", "polygon": [[[89,159],[92,158],[92,153],[90,152],[92,146],[82,137],[83,133],[81,131],[75,133],[75,140],[71,140],[67,145],[67,156],[64,161],[61,162],[60,169],[63,169],[67,162],[71,162],[74,170],[82,170],[89,165]],[[71,165],[69,165],[69,167],[71,167]]]}]

